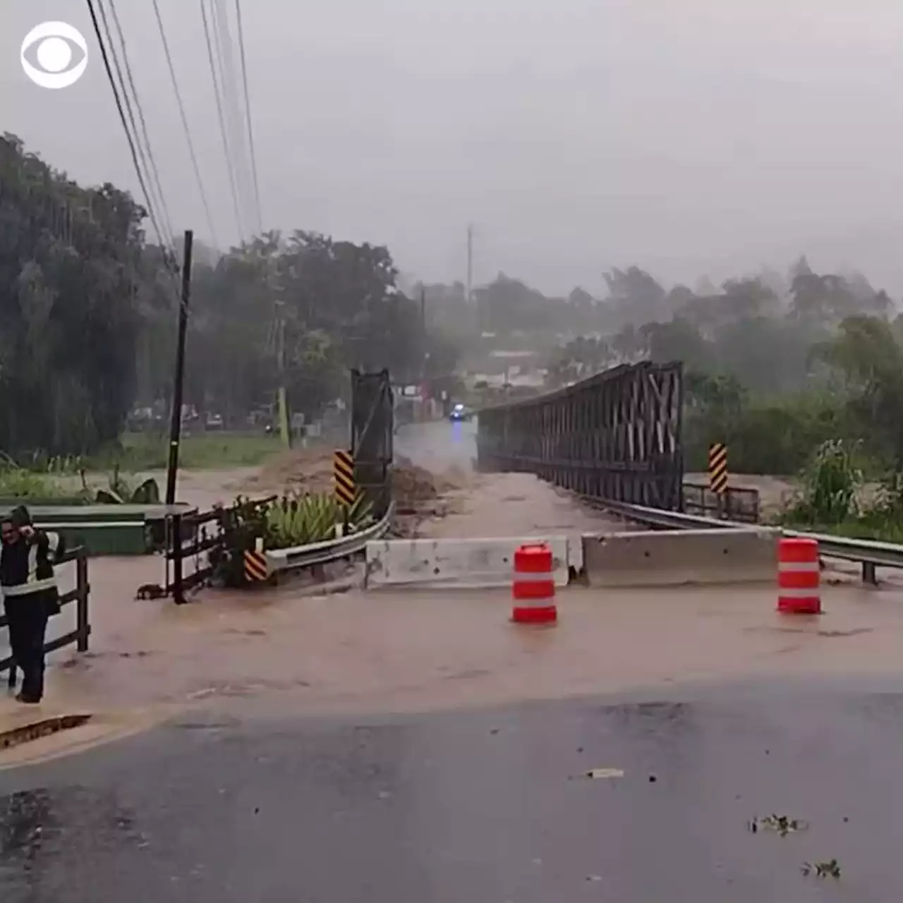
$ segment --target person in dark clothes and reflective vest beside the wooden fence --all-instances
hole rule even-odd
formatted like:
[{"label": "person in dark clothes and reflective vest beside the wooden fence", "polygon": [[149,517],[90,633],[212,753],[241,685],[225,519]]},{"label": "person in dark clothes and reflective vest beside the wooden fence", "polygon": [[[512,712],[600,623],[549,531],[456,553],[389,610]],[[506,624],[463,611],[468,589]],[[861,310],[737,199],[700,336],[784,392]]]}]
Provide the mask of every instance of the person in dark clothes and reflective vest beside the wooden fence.
[{"label": "person in dark clothes and reflective vest beside the wooden fence", "polygon": [[20,703],[40,703],[44,694],[44,636],[47,620],[60,610],[53,573],[61,537],[35,529],[28,509],[15,508],[0,522],[0,591],[3,592],[9,645],[22,671]]}]

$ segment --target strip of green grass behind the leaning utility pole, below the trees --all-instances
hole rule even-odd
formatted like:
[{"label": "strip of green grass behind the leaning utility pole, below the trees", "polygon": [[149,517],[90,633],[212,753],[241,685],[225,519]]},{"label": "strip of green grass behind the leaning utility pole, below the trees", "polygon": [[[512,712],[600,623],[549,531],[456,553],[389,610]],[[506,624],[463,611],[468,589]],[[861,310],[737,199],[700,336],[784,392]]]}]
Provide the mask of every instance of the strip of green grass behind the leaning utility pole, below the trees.
[{"label": "strip of green grass behind the leaning utility pole, below the trees", "polygon": [[[200,433],[185,436],[179,447],[179,468],[214,470],[221,467],[256,467],[271,455],[282,451],[276,435],[242,433]],[[125,433],[120,448],[98,455],[86,466],[89,470],[164,470],[169,441],[150,433]]]}]

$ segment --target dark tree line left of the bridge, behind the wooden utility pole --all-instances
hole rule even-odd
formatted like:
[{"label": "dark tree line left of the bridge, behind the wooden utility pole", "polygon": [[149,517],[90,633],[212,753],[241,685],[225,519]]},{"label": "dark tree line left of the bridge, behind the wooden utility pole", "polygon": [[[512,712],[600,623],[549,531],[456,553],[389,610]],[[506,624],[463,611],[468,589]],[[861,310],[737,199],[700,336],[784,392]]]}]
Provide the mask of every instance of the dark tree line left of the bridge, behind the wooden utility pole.
[{"label": "dark tree line left of the bridge, behind the wooden utility pole", "polygon": [[[83,187],[0,137],[0,451],[86,454],[115,443],[135,405],[172,395],[178,253],[149,242],[146,210]],[[314,416],[348,369],[398,380],[451,372],[386,247],[267,232],[228,253],[195,246],[186,404],[227,420],[281,381]]]}]

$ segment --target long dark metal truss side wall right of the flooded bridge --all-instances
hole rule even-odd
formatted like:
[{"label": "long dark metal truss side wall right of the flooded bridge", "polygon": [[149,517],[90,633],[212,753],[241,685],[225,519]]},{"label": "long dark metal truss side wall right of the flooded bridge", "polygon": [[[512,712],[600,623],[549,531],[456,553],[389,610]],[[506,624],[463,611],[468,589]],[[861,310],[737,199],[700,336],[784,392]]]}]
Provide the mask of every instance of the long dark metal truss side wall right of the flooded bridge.
[{"label": "long dark metal truss side wall right of the flooded bridge", "polygon": [[682,510],[683,365],[625,364],[479,412],[480,470],[535,473],[585,496]]}]

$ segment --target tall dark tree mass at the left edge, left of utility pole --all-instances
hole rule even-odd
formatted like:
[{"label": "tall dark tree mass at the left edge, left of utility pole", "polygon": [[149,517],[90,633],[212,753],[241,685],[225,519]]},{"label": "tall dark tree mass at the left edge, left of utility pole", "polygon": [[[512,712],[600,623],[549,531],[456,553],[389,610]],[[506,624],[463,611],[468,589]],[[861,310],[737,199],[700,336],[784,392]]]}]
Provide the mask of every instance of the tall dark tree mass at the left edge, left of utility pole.
[{"label": "tall dark tree mass at the left edge, left of utility pole", "polygon": [[0,138],[0,448],[116,439],[135,387],[144,215],[126,192],[82,189]]}]

